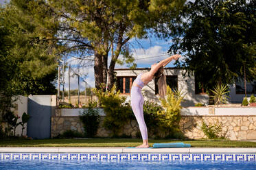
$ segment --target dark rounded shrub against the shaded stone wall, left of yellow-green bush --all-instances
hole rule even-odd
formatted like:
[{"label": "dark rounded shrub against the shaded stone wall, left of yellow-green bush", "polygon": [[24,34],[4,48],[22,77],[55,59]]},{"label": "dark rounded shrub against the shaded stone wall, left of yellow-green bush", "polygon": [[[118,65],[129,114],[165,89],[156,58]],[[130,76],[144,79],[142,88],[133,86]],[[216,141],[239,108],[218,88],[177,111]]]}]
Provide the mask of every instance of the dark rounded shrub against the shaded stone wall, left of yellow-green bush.
[{"label": "dark rounded shrub against the shaded stone wall, left of yellow-green bush", "polygon": [[100,124],[99,112],[93,108],[88,108],[88,110],[84,110],[79,118],[84,127],[84,136],[95,136],[95,134],[97,134],[97,128]]}]

